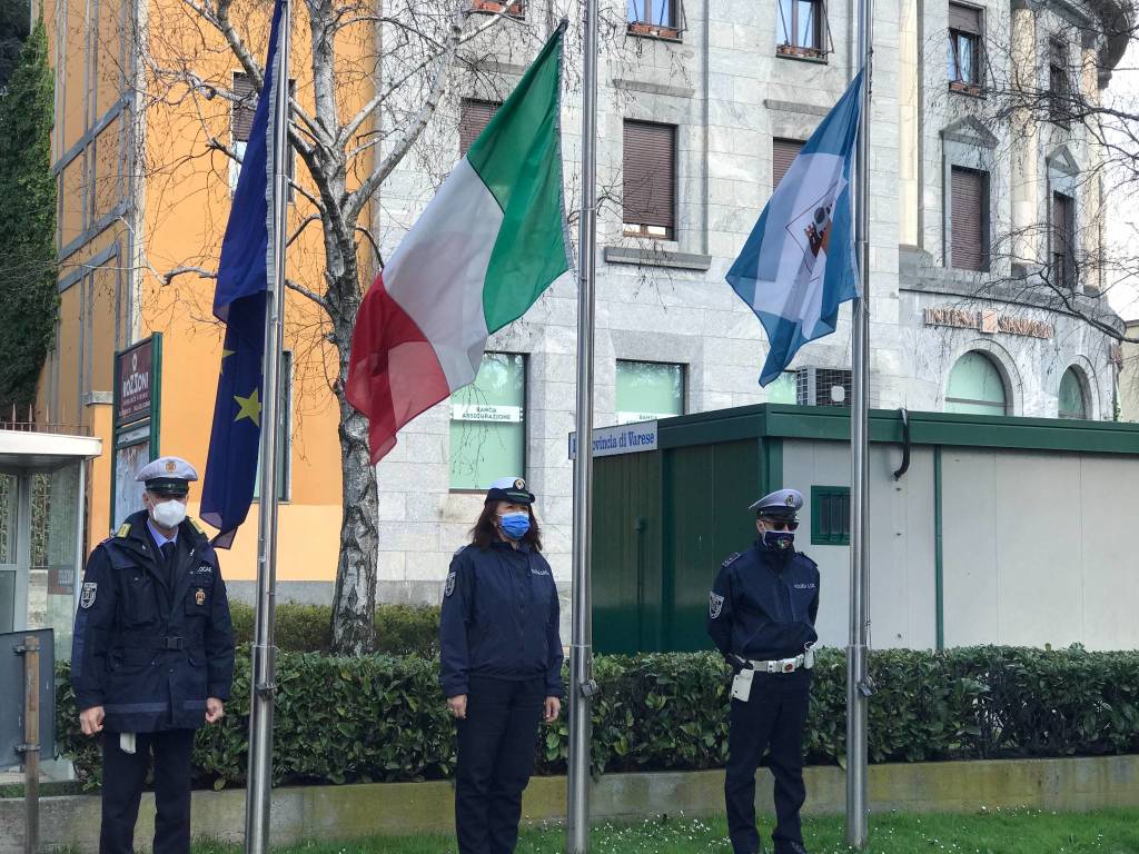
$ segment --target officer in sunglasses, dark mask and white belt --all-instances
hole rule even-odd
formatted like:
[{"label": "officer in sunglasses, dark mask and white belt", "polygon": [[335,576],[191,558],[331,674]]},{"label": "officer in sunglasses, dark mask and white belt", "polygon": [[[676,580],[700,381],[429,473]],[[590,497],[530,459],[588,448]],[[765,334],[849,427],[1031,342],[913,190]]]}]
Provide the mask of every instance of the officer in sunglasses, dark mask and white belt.
[{"label": "officer in sunglasses, dark mask and white belt", "polygon": [[762,851],[755,827],[755,771],[767,752],[775,775],[776,854],[805,854],[800,810],[803,725],[818,640],[819,568],[795,550],[803,496],[779,490],[751,506],[755,544],[723,561],[708,600],[708,634],[731,665],[731,721],[724,799],[735,854]]}]

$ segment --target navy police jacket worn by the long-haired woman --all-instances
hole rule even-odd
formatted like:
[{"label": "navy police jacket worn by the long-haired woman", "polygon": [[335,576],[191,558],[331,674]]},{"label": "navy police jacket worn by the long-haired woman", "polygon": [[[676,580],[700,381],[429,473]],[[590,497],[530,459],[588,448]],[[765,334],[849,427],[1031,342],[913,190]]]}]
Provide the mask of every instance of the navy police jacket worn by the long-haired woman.
[{"label": "navy police jacket worn by the long-haired woman", "polygon": [[525,543],[454,553],[440,617],[440,684],[467,693],[469,676],[543,679],[562,696],[558,591],[550,565]]}]

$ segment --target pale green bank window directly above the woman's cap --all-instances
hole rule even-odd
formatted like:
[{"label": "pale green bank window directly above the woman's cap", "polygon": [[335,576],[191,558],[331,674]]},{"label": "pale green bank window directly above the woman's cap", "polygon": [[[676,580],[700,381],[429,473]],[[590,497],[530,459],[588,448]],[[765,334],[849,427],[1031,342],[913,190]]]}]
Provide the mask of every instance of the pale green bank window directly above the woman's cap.
[{"label": "pale green bank window directly above the woman's cap", "polygon": [[475,381],[451,395],[451,488],[525,477],[526,358],[483,353]]}]

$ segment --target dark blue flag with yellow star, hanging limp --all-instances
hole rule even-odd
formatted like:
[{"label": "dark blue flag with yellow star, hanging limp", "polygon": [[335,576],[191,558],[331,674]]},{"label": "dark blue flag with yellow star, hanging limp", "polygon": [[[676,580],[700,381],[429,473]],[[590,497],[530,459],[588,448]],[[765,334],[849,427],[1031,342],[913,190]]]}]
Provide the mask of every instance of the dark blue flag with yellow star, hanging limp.
[{"label": "dark blue flag with yellow star, hanging limp", "polygon": [[219,529],[214,544],[222,548],[230,547],[249,512],[261,449],[265,294],[272,258],[271,140],[280,18],[278,0],[269,31],[264,83],[241,158],[214,291],[214,317],[226,325],[226,340],[202,486],[202,518]]}]

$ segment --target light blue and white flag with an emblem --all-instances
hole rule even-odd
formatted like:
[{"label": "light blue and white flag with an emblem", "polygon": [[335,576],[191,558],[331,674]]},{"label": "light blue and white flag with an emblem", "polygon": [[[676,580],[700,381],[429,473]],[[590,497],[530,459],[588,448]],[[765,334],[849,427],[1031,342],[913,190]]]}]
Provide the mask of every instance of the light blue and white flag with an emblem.
[{"label": "light blue and white flag with an emblem", "polygon": [[850,178],[862,75],[803,146],[728,271],[771,344],[761,386],[806,342],[835,331],[838,306],[858,296]]}]

